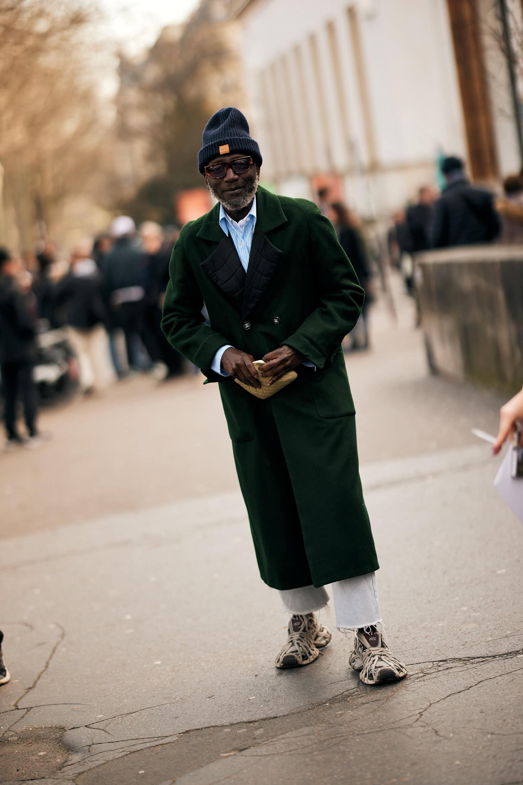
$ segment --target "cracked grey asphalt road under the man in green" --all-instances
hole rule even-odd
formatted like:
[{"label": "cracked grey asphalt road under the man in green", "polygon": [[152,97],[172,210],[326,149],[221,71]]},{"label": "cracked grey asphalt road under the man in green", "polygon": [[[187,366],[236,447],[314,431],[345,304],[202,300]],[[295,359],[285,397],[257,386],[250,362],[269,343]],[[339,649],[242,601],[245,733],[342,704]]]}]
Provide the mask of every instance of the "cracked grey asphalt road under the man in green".
[{"label": "cracked grey asphalt road under the man in green", "polygon": [[523,782],[523,528],[470,435],[495,431],[500,400],[427,375],[396,294],[400,322],[376,306],[374,348],[347,367],[409,678],[361,685],[340,633],[274,669],[286,617],[217,390],[137,379],[45,414],[49,447],[0,458],[1,783]]}]

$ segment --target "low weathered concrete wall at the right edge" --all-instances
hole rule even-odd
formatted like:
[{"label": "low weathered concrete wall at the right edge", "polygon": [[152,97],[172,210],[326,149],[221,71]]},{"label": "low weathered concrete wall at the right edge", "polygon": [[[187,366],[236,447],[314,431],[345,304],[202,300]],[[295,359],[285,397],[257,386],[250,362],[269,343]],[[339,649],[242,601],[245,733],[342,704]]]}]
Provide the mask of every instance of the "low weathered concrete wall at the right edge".
[{"label": "low weathered concrete wall at the right edge", "polygon": [[433,370],[517,392],[523,382],[523,246],[419,254],[416,287]]}]

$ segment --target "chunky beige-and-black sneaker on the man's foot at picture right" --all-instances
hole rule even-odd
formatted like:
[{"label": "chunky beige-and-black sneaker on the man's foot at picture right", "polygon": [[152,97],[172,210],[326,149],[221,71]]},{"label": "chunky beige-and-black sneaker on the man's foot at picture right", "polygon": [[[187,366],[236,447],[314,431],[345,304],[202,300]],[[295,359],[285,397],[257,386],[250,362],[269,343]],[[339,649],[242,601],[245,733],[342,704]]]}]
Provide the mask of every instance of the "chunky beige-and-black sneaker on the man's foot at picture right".
[{"label": "chunky beige-and-black sneaker on the man's foot at picture right", "polygon": [[349,665],[360,671],[361,681],[365,685],[398,681],[407,675],[405,665],[390,652],[383,634],[375,625],[355,630],[354,650],[350,652]]}]

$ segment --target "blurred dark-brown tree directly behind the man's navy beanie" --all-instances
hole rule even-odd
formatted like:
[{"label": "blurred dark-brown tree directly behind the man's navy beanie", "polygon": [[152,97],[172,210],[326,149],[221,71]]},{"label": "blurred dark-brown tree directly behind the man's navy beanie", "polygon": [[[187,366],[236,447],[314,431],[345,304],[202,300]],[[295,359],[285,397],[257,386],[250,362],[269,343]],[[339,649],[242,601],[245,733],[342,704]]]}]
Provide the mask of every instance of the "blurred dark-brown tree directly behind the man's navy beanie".
[{"label": "blurred dark-brown tree directly behind the man's navy beanie", "polygon": [[130,156],[137,177],[122,206],[139,220],[172,222],[176,192],[202,186],[196,157],[205,122],[241,100],[227,5],[202,0],[183,28],[162,31],[145,60],[122,58],[121,79],[118,133],[143,151],[141,162]]}]

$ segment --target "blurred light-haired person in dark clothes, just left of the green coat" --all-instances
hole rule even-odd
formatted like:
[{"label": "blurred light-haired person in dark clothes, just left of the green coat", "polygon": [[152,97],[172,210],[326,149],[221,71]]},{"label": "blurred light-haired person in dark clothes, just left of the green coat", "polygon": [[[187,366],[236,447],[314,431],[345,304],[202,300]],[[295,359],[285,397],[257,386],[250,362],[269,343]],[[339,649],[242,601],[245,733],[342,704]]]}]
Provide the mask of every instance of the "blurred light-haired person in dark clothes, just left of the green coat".
[{"label": "blurred light-haired person in dark clothes, just left of the green coat", "polygon": [[182,371],[182,356],[169,344],[162,331],[162,305],[169,283],[169,261],[173,245],[165,242],[162,227],[154,221],[140,226],[142,248],[147,257],[143,341],[154,363],[165,363],[164,381]]}]

